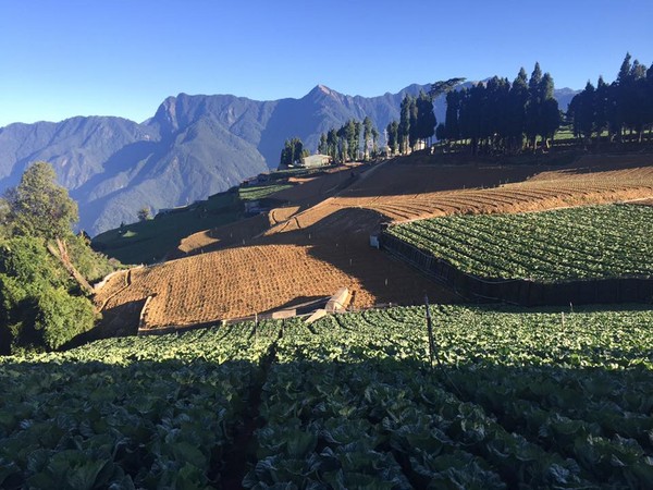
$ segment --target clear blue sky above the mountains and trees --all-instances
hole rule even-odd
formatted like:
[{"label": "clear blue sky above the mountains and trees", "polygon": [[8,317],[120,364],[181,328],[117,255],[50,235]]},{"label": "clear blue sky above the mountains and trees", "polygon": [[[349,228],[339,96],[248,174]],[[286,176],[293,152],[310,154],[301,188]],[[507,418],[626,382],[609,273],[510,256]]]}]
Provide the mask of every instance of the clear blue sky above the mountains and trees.
[{"label": "clear blue sky above the mountains and trees", "polygon": [[612,82],[653,63],[652,0],[0,0],[0,126],[144,121],[168,96],[375,96],[454,76]]}]

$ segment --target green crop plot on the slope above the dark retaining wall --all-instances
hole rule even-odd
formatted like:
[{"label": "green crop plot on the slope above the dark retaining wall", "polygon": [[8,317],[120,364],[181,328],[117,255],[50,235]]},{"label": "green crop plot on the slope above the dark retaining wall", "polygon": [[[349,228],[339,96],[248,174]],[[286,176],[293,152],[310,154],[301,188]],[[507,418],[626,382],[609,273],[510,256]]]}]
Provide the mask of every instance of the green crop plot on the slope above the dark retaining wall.
[{"label": "green crop plot on the slope above the dark retaining wall", "polygon": [[609,205],[451,216],[389,233],[469,274],[556,283],[652,278],[652,223],[651,207]]}]

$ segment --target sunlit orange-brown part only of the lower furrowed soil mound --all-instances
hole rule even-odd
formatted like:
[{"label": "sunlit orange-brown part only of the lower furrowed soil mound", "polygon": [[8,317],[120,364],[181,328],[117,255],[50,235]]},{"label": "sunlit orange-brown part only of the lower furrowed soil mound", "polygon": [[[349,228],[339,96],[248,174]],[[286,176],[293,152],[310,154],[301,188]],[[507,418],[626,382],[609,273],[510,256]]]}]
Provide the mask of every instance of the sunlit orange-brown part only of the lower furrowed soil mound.
[{"label": "sunlit orange-brown part only of the lower furrowed soil mound", "polygon": [[249,246],[133,269],[128,287],[106,299],[104,308],[151,296],[144,330],[184,327],[328,297],[342,286],[357,292],[360,304],[372,303],[357,278],[311,256],[309,247]]}]

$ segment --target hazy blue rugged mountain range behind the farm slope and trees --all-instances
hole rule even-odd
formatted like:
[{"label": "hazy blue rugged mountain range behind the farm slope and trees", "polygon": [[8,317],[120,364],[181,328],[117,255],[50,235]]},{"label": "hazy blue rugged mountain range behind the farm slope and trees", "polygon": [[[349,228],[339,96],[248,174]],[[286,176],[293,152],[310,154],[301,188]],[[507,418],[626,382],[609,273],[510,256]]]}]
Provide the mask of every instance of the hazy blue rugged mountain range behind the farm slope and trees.
[{"label": "hazy blue rugged mountain range behind the farm slope and trees", "polygon": [[[143,123],[76,117],[10,124],[0,128],[0,192],[15,185],[29,163],[48,161],[79,205],[79,228],[95,235],[135,221],[143,207],[156,212],[193,203],[275,168],[287,138],[298,136],[315,151],[321,133],[366,115],[383,135],[399,119],[404,96],[429,87],[361,97],[318,85],[300,99],[273,101],[180,94]],[[560,109],[576,93],[556,90]],[[444,97],[434,101],[434,112],[444,121]]]}]

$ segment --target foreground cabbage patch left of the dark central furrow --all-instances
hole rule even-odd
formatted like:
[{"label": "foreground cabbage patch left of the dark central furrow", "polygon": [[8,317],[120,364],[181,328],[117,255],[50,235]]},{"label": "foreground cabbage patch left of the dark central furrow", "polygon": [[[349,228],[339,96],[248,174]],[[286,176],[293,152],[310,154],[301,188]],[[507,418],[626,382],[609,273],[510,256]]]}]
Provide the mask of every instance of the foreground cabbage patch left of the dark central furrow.
[{"label": "foreground cabbage patch left of the dark central furrow", "polygon": [[0,364],[0,488],[204,488],[280,324],[96,342]]}]

